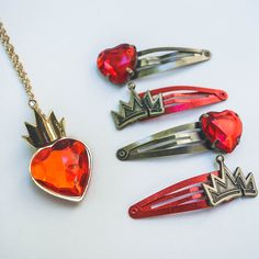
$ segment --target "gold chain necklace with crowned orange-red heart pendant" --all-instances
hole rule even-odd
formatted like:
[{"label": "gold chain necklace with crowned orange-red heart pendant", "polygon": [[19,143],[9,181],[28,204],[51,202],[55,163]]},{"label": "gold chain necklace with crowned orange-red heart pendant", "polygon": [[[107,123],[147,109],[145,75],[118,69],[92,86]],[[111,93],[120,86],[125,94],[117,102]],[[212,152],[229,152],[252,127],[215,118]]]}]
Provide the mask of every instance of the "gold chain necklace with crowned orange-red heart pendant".
[{"label": "gold chain necklace with crowned orange-red heart pendant", "polygon": [[31,80],[1,22],[0,41],[21,79],[29,98],[29,106],[35,115],[35,125],[25,123],[29,136],[24,136],[37,148],[30,164],[32,180],[54,196],[81,201],[91,174],[89,148],[80,140],[66,137],[64,119],[58,121],[54,112],[48,116],[42,112],[33,93]]}]

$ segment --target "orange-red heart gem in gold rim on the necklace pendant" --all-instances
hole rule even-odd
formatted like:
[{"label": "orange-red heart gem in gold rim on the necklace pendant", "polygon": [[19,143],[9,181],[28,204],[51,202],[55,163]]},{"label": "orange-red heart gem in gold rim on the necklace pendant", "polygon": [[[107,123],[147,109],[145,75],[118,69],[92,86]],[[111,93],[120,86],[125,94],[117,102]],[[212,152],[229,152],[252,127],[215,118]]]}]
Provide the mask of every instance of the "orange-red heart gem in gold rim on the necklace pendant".
[{"label": "orange-red heart gem in gold rim on the necklace pendant", "polygon": [[79,140],[63,138],[40,149],[31,162],[31,176],[43,190],[67,199],[82,199],[91,171],[88,148]]}]

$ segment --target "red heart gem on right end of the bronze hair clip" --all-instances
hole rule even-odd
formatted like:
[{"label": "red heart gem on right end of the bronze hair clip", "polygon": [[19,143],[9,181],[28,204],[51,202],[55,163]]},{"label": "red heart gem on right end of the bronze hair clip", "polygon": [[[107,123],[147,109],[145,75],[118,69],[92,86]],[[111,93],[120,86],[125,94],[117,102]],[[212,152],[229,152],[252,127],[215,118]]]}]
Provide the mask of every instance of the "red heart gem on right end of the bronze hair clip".
[{"label": "red heart gem on right end of the bronze hair clip", "polygon": [[200,121],[205,137],[216,148],[232,153],[238,145],[243,124],[235,112],[229,110],[209,112],[202,115]]}]

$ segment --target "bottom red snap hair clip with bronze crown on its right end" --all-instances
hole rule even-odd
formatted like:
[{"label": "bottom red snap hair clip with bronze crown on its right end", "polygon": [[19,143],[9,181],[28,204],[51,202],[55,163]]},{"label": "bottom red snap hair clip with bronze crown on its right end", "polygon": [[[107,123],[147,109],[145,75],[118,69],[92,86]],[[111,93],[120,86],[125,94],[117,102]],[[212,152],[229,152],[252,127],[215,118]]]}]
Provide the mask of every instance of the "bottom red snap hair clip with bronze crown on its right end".
[{"label": "bottom red snap hair clip with bronze crown on its right end", "polygon": [[204,173],[168,187],[130,207],[133,218],[176,214],[216,206],[239,196],[257,196],[252,173],[246,178],[241,169],[235,172],[217,156],[218,171]]}]

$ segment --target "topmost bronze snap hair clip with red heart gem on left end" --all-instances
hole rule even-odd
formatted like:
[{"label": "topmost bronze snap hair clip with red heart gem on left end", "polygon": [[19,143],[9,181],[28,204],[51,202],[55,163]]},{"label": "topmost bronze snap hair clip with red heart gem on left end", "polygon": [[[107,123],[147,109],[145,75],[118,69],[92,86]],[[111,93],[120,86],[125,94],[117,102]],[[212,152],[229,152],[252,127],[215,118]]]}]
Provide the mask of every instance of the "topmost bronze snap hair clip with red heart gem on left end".
[{"label": "topmost bronze snap hair clip with red heart gem on left end", "polygon": [[211,58],[205,49],[157,47],[137,52],[134,45],[121,44],[98,56],[98,68],[113,83],[122,85],[145,77]]}]

